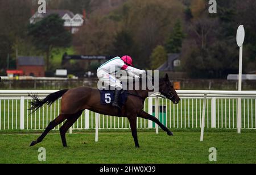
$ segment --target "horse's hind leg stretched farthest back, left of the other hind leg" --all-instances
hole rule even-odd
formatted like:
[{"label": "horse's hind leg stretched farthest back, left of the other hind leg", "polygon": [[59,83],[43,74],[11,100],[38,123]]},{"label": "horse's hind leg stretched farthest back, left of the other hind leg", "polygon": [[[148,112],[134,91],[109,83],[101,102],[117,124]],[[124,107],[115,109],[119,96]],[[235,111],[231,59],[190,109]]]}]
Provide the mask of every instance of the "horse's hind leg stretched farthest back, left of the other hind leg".
[{"label": "horse's hind leg stretched farthest back, left of the other hind leg", "polygon": [[32,147],[32,146],[40,143],[41,141],[43,141],[43,139],[46,137],[46,135],[49,133],[49,131],[51,131],[53,128],[55,128],[58,124],[63,122],[65,119],[67,119],[67,115],[57,116],[56,119],[54,119],[51,123],[49,123],[46,130],[44,130],[43,134],[38,139],[36,139],[36,141],[31,142],[30,147]]}]

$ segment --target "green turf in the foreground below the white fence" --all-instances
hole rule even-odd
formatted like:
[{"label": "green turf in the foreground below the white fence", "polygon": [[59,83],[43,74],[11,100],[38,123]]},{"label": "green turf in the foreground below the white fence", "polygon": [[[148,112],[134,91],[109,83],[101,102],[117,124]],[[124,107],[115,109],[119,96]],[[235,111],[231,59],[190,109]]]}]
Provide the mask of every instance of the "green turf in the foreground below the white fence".
[{"label": "green turf in the foreground below the white fence", "polygon": [[[35,147],[28,147],[36,134],[1,134],[0,163],[41,163],[38,149],[46,148],[44,163],[256,163],[255,130],[236,132],[139,132],[140,149],[135,149],[130,132],[102,133],[98,143],[93,133],[67,135],[63,148],[59,134],[49,134]],[[209,148],[217,148],[217,162],[210,162]]]}]

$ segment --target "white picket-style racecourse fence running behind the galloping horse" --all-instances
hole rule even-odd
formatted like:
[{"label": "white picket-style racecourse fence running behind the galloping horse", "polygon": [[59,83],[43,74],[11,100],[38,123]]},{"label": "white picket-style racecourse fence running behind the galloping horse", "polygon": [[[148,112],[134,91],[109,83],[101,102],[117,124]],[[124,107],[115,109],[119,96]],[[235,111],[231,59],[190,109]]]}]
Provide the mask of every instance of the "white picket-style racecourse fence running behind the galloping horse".
[{"label": "white picket-style racecourse fence running behind the galloping horse", "polygon": [[[30,114],[31,97],[28,93],[38,94],[45,98],[55,91],[0,91],[0,130],[43,130],[49,122],[60,113],[60,99],[51,107],[44,106],[34,114]],[[256,91],[177,91],[181,101],[178,105],[168,99],[152,96],[146,99],[144,110],[156,117],[168,128],[237,128],[238,99],[242,99],[241,127],[256,128]],[[205,99],[205,100],[204,100]],[[204,109],[205,104],[205,109]],[[153,106],[155,106],[153,108]],[[205,115],[204,115],[205,114]],[[98,116],[98,122],[96,122]],[[205,118],[203,117],[205,116]],[[205,119],[205,122],[204,122]],[[126,118],[96,115],[85,110],[72,129],[130,128]],[[61,124],[60,124],[61,126]],[[59,129],[57,126],[55,129]],[[138,118],[138,128],[156,128],[155,124]]]}]

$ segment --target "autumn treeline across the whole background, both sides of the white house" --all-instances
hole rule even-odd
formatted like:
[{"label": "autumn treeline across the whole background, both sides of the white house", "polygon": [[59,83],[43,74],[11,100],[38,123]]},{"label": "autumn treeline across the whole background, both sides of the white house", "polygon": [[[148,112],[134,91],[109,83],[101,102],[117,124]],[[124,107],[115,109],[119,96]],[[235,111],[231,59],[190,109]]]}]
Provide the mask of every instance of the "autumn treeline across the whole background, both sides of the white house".
[{"label": "autumn treeline across the whole background, both sides of the white house", "polygon": [[[9,54],[40,53],[27,35],[33,0],[0,0],[0,69]],[[135,65],[156,69],[168,53],[181,54],[177,70],[195,78],[226,78],[238,72],[236,31],[245,26],[243,71],[256,70],[256,1],[218,0],[209,14],[208,0],[48,0],[48,9],[87,12],[86,24],[73,35],[77,54],[131,55]],[[12,64],[10,64],[12,65]]]}]

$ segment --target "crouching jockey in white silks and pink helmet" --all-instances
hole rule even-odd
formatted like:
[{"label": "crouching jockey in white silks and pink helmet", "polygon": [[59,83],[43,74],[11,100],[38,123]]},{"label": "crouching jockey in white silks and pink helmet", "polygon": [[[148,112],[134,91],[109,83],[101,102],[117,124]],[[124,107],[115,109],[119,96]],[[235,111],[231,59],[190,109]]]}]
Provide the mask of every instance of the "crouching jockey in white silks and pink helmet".
[{"label": "crouching jockey in white silks and pink helmet", "polygon": [[125,70],[130,77],[137,80],[140,78],[138,75],[143,74],[144,70],[133,68],[133,59],[127,55],[122,58],[114,57],[114,59],[105,62],[98,68],[97,76],[99,80],[104,82],[105,85],[115,87],[114,102],[112,103],[112,106],[121,109],[118,105],[118,97],[123,86],[121,81],[114,76],[115,72],[118,72],[119,70]]}]

